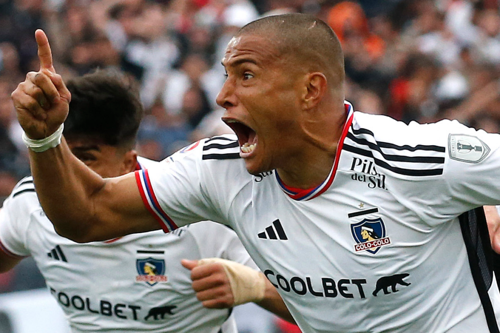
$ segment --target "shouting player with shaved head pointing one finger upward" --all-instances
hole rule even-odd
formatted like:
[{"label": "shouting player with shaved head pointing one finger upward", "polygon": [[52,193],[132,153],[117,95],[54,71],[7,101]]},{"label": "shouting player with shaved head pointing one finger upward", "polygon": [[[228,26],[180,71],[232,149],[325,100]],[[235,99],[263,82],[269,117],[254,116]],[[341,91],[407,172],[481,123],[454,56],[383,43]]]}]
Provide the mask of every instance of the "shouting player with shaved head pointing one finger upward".
[{"label": "shouting player with shaved head pointing one finger upward", "polygon": [[[321,20],[267,16],[231,39],[217,103],[237,139],[114,179],[59,143],[70,96],[35,36],[41,69],[12,98],[61,234],[88,242],[210,219],[236,231],[304,333],[498,332],[491,248],[476,242],[485,222],[458,217],[500,204],[500,135],[353,112]],[[363,240],[363,226],[380,238]]]}]

